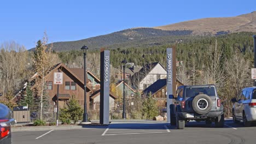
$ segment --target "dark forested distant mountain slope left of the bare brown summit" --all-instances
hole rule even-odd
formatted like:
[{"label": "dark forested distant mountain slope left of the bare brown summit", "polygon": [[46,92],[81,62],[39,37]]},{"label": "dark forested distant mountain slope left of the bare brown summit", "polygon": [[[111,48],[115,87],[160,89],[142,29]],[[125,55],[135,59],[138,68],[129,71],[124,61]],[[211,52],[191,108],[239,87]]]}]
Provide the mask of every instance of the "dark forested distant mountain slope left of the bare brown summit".
[{"label": "dark forested distant mountain slope left of the bare brown summit", "polygon": [[191,33],[192,31],[188,30],[162,31],[154,28],[132,28],[88,39],[53,43],[53,50],[79,50],[83,45],[90,49],[162,45],[173,43],[178,39],[186,39],[186,37],[181,36],[190,35]]}]

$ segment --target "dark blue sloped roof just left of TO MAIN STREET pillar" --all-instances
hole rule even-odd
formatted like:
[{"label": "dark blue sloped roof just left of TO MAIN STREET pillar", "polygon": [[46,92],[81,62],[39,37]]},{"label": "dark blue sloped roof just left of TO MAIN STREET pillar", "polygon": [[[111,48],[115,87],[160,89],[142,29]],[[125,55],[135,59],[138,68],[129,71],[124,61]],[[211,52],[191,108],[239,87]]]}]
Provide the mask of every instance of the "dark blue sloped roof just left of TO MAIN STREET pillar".
[{"label": "dark blue sloped roof just left of TO MAIN STREET pillar", "polygon": [[156,82],[154,82],[152,85],[144,89],[143,93],[144,94],[149,94],[150,92],[152,95],[156,92],[158,92],[162,87],[166,86],[166,79],[159,79]]}]

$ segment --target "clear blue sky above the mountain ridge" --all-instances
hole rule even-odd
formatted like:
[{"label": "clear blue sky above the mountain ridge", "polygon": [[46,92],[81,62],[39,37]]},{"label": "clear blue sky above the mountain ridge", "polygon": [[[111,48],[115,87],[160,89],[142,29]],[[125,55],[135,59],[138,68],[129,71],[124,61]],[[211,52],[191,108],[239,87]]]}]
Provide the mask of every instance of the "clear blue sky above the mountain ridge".
[{"label": "clear blue sky above the mountain ridge", "polygon": [[14,40],[31,49],[44,31],[50,43],[72,41],[127,28],[237,16],[255,10],[253,0],[3,0],[0,2],[0,44]]}]

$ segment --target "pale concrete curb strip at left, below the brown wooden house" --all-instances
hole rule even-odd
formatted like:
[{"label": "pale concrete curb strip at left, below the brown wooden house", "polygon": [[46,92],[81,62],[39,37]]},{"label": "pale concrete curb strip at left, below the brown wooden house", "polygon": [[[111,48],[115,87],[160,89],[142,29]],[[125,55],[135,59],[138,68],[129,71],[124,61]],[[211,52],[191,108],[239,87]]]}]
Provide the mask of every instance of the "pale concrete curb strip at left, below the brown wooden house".
[{"label": "pale concrete curb strip at left, below the brown wooden house", "polygon": [[59,125],[59,126],[30,126],[30,127],[12,127],[11,131],[44,131],[44,130],[69,130],[69,129],[88,129],[82,125]]}]

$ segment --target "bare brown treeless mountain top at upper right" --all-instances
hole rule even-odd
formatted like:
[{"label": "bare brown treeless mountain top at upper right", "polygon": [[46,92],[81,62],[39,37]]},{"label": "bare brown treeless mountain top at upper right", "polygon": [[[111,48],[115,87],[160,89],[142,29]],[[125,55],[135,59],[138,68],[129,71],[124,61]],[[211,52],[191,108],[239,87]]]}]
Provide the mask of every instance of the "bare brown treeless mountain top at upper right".
[{"label": "bare brown treeless mountain top at upper right", "polygon": [[174,23],[155,27],[162,30],[193,31],[194,35],[215,35],[219,32],[256,32],[256,11],[235,17],[216,17]]}]

